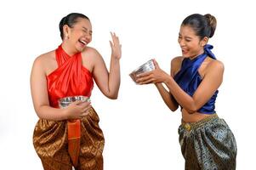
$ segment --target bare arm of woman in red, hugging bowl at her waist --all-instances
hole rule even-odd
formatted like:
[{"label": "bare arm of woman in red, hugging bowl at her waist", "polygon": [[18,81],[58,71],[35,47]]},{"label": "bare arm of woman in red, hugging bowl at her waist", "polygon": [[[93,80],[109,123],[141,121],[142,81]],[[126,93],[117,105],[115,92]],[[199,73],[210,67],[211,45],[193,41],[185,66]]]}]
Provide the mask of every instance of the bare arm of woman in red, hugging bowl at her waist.
[{"label": "bare arm of woman in red, hugging bowl at her waist", "polygon": [[43,65],[45,59],[38,57],[31,71],[31,95],[37,116],[42,119],[61,121],[65,119],[81,118],[88,109],[89,103],[74,102],[66,109],[51,107],[48,101],[48,89]]}]

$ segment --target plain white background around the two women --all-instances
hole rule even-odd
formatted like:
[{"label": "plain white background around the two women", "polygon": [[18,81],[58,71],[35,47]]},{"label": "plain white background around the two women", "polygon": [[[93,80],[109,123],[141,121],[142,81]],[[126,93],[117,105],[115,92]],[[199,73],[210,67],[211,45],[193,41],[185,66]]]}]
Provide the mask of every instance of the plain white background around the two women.
[{"label": "plain white background around the two women", "polygon": [[[184,169],[178,142],[180,112],[169,111],[154,85],[137,86],[128,74],[151,58],[164,71],[180,55],[179,26],[189,14],[213,14],[210,43],[225,64],[216,110],[236,136],[237,169],[255,157],[255,5],[253,1],[2,1],[0,3],[0,169],[43,169],[33,144],[37,122],[30,94],[33,60],[60,44],[59,22],[71,12],[90,18],[90,46],[110,63],[110,31],[122,42],[117,100],[94,86],[92,103],[105,134],[105,170]],[[157,3],[156,3],[157,2]]]}]

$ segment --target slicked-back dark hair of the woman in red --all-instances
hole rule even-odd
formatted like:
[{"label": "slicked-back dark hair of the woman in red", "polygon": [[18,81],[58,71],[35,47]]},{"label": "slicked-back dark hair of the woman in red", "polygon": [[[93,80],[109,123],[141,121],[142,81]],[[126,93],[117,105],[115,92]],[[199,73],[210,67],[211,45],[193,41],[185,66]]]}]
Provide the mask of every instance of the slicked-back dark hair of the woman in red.
[{"label": "slicked-back dark hair of the woman in red", "polygon": [[63,26],[67,25],[67,26],[72,28],[77,23],[77,19],[79,19],[79,18],[89,20],[87,16],[85,16],[84,14],[79,14],[79,13],[68,14],[60,20],[59,27],[60,27],[60,37],[61,37],[61,39],[63,39],[63,37],[64,37],[64,35],[63,35]]}]

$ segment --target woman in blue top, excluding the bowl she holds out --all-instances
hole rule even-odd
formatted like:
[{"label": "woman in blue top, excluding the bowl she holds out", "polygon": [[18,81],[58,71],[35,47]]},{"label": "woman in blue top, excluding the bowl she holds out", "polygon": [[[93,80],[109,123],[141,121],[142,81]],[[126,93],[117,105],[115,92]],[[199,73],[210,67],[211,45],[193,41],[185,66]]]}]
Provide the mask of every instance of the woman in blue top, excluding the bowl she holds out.
[{"label": "woman in blue top, excluding the bowl she holds out", "polygon": [[[223,80],[224,65],[212,53],[216,19],[211,14],[191,14],[179,30],[182,56],[171,61],[171,76],[157,65],[140,74],[139,84],[155,83],[171,111],[180,105],[179,144],[185,169],[236,169],[236,139],[215,112],[215,99]],[[168,87],[168,90],[162,86]]]}]

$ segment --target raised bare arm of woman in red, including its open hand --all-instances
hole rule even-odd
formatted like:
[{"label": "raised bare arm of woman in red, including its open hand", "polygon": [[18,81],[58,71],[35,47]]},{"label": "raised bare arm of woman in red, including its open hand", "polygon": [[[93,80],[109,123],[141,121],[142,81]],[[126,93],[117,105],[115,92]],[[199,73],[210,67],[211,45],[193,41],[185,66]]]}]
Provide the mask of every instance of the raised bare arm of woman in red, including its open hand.
[{"label": "raised bare arm of woman in red, including its open hand", "polygon": [[94,80],[102,94],[110,99],[117,99],[120,87],[120,63],[121,58],[121,45],[116,34],[112,34],[111,43],[111,65],[110,72],[107,71],[105,62],[101,55],[95,50],[94,57]]}]

